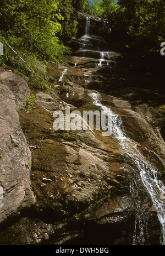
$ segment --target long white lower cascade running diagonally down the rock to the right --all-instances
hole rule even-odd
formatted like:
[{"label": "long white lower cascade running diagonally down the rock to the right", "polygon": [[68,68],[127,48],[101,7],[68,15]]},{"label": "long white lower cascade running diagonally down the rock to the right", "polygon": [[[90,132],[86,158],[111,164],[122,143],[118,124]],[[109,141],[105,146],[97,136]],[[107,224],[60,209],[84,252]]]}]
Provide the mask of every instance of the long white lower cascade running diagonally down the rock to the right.
[{"label": "long white lower cascade running diagonally down the rock to the right", "polygon": [[[103,106],[100,103],[100,95],[98,93],[90,93],[90,96],[94,100],[94,104],[96,106],[100,106],[105,113],[109,113],[106,106]],[[113,112],[112,112],[113,113]],[[152,200],[152,204],[156,209],[158,220],[161,224],[162,237],[160,243],[162,245],[165,244],[165,202],[164,199],[164,186],[162,181],[158,179],[158,173],[155,168],[147,161],[147,159],[142,155],[138,149],[138,146],[134,140],[129,139],[124,135],[122,118],[117,114],[111,114],[112,118],[112,136],[116,137],[119,141],[121,148],[124,150],[124,154],[131,159],[133,163],[135,175],[138,172],[140,174],[138,182],[142,182],[147,193],[150,195]],[[159,156],[157,156],[159,158]],[[160,158],[159,158],[160,159]],[[163,163],[162,163],[163,164]],[[136,189],[136,185],[131,184],[130,190]],[[141,243],[144,244],[144,232],[147,233],[147,216],[142,213],[140,208],[141,202],[138,203],[138,213],[135,217],[135,232],[133,243]],[[139,227],[140,232],[137,236],[136,227]],[[146,234],[147,235],[147,234]]]}]

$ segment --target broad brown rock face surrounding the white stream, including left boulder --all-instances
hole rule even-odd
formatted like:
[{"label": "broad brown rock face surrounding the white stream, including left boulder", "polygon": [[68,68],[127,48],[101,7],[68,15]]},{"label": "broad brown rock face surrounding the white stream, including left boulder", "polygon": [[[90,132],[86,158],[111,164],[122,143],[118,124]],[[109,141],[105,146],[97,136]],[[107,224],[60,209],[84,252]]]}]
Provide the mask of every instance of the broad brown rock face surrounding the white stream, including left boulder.
[{"label": "broad brown rock face surrounding the white stream, including left boulder", "polygon": [[[86,15],[79,15],[85,29]],[[95,29],[97,22],[95,19]],[[80,34],[84,35],[84,30]],[[100,111],[89,94],[99,92],[102,105],[122,118],[125,135],[136,142],[163,181],[163,104],[161,108],[151,106],[152,88],[146,92],[146,101],[145,97],[139,100],[145,93],[137,81],[139,72],[131,77],[133,87],[129,69],[121,68],[125,64],[121,54],[112,51],[103,59],[100,52],[98,58],[63,58],[67,65],[47,67],[55,96],[31,91],[36,100],[31,110],[20,109],[19,116],[15,102],[19,108],[25,106],[30,93],[25,90],[27,84],[2,72],[1,222],[18,212],[20,215],[3,226],[1,244],[160,244],[156,208],[119,139],[103,137],[102,130],[96,129],[54,130],[53,123],[54,111],[62,111],[66,118],[66,106],[79,111],[81,121],[83,111]],[[161,98],[159,94],[156,97]]]}]

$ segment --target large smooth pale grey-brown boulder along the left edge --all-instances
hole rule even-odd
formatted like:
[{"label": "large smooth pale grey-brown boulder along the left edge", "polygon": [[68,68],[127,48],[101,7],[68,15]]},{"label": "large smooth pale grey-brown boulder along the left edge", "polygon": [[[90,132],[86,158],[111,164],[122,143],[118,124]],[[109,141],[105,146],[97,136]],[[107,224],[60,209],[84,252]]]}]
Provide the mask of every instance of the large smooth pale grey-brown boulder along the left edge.
[{"label": "large smooth pale grey-brown boulder along the left edge", "polygon": [[30,189],[31,153],[19,123],[18,107],[30,95],[27,83],[12,72],[1,72],[1,181],[0,222],[18,215],[35,202]]}]

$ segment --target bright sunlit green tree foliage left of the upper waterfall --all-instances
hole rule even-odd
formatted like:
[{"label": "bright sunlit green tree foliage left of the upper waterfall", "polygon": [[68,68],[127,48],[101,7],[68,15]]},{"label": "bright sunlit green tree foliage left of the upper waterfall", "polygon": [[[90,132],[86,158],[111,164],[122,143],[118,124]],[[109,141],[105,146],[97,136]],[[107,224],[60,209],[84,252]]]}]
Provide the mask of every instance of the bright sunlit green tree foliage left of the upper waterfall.
[{"label": "bright sunlit green tree foliage left of the upper waterfall", "polygon": [[58,1],[0,0],[0,4],[0,36],[4,44],[1,62],[11,57],[8,45],[40,60],[59,60],[68,50],[57,36],[63,20]]}]

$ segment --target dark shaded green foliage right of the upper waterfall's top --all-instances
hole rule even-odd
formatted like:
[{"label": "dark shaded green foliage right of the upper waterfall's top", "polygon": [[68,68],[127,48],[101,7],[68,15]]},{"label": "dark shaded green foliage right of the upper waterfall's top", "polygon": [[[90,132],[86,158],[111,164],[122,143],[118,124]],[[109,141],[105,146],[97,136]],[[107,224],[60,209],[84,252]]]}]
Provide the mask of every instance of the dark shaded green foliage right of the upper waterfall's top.
[{"label": "dark shaded green foliage right of the upper waterfall's top", "polygon": [[165,41],[164,0],[94,0],[91,14],[108,20],[127,48],[144,55],[160,54]]}]

